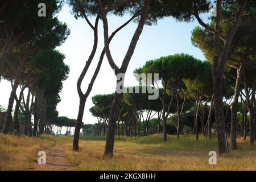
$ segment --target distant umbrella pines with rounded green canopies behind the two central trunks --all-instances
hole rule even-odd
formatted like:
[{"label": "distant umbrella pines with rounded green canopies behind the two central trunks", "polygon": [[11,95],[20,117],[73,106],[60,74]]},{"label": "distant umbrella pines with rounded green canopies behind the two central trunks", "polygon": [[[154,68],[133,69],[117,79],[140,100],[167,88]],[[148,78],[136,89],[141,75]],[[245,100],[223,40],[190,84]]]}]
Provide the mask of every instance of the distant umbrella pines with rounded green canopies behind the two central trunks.
[{"label": "distant umbrella pines with rounded green canopies behind the two central trunks", "polygon": [[[214,123],[211,72],[210,63],[187,54],[147,61],[142,68],[134,71],[141,75],[137,77],[140,85],[126,88],[127,93],[123,94],[115,134],[140,137],[163,133],[166,141],[167,133],[176,134],[177,138],[183,133],[195,134],[196,139],[201,133],[211,139]],[[159,73],[159,80],[150,85],[159,92],[156,100],[148,100],[150,94],[143,92],[148,89],[148,73]],[[162,88],[158,88],[159,82]],[[226,90],[229,90],[226,93],[229,99],[232,94],[229,82],[226,82]],[[98,135],[106,133],[111,109],[109,103],[113,99],[114,94],[92,97],[94,106],[90,112],[98,119]]]}]

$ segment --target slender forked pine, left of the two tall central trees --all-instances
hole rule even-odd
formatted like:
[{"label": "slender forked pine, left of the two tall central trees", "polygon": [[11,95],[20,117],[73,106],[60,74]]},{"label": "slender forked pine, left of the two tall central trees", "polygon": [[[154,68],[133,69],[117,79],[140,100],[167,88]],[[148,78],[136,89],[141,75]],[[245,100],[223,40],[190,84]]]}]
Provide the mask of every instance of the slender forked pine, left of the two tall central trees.
[{"label": "slender forked pine, left of the two tall central trees", "polygon": [[[110,7],[113,6],[115,1],[104,1],[102,2],[102,6],[104,7]],[[75,16],[75,18],[84,18],[86,20],[86,23],[88,26],[92,29],[94,40],[93,40],[93,47],[92,51],[90,52],[90,55],[88,57],[88,60],[86,61],[84,65],[84,69],[82,69],[82,72],[77,80],[77,93],[79,94],[79,112],[77,114],[77,120],[76,120],[76,127],[75,127],[75,134],[73,139],[73,150],[79,150],[79,137],[80,137],[80,130],[82,126],[82,119],[84,116],[84,108],[86,100],[92,91],[94,81],[97,78],[98,72],[100,71],[102,61],[104,59],[105,55],[105,49],[101,51],[100,59],[98,60],[97,67],[93,73],[93,76],[90,80],[90,83],[86,89],[86,92],[83,93],[81,89],[82,81],[84,80],[84,77],[86,73],[88,72],[88,69],[90,67],[90,64],[92,63],[97,47],[98,47],[98,22],[100,20],[100,14],[98,13],[98,5],[96,1],[85,1],[85,0],[71,0],[69,1],[69,4],[72,6],[72,14]],[[124,6],[126,3],[118,3],[118,9],[108,9],[108,11],[111,11],[111,13],[115,15],[123,15],[127,9],[129,9],[129,6]],[[88,16],[96,16],[95,22],[91,23],[88,19]],[[139,11],[135,11],[134,15],[131,16],[129,20],[127,20],[125,23],[123,23],[120,27],[118,27],[115,31],[112,32],[112,34],[109,36],[109,42],[113,39],[115,34],[117,34],[118,31],[122,30],[123,27],[127,26],[133,19],[135,19],[139,15]]]}]

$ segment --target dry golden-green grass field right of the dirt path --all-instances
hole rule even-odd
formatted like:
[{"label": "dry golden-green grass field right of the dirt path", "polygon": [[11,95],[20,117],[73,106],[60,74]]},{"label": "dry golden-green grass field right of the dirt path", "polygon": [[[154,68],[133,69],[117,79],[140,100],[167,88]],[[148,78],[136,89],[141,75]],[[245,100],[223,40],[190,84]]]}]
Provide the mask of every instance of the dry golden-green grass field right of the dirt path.
[{"label": "dry golden-green grass field right of the dirt path", "polygon": [[238,150],[229,156],[217,156],[217,164],[209,165],[209,151],[217,150],[217,140],[203,137],[162,135],[115,140],[113,159],[102,156],[105,137],[88,137],[80,140],[80,151],[72,151],[72,138],[60,137],[69,163],[78,170],[256,170],[256,146],[248,139],[238,138]]}]

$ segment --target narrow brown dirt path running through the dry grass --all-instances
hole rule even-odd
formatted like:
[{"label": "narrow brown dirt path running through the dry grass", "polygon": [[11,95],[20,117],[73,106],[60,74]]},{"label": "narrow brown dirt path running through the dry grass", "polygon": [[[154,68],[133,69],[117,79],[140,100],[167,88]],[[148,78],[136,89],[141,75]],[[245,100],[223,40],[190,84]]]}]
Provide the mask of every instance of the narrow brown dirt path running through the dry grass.
[{"label": "narrow brown dirt path running through the dry grass", "polygon": [[73,171],[75,166],[68,164],[65,159],[63,147],[56,141],[55,145],[44,150],[46,152],[46,164],[34,163],[33,171]]}]

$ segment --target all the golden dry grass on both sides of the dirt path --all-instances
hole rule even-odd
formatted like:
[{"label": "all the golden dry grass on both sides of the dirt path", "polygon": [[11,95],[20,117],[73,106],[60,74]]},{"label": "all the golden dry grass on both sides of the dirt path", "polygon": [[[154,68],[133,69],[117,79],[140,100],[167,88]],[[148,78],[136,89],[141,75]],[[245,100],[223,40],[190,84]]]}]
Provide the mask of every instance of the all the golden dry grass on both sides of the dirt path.
[{"label": "all the golden dry grass on both sides of the dirt path", "polygon": [[[72,151],[72,137],[59,137],[68,163],[77,170],[256,170],[256,146],[249,138],[238,138],[238,150],[230,155],[217,156],[217,164],[209,165],[209,151],[217,150],[217,140],[194,136],[169,135],[166,143],[162,135],[115,140],[114,157],[104,158],[105,137],[84,137],[80,151]],[[0,170],[29,170],[38,158],[37,153],[54,145],[54,138],[0,134]]]}]

